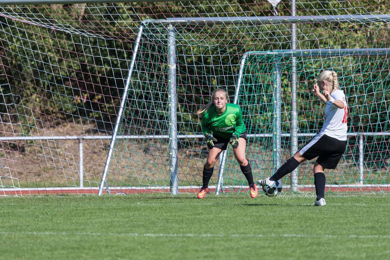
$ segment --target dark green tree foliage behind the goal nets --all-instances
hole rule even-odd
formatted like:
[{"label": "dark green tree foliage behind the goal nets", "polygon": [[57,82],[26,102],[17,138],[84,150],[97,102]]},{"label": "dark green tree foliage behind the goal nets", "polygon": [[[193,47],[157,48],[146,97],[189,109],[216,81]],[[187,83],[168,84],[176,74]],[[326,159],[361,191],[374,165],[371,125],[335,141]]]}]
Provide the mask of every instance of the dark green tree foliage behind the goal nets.
[{"label": "dark green tree foliage behind the goal nets", "polygon": [[[297,15],[379,14],[387,9],[385,3],[372,5],[370,1],[315,1],[298,3]],[[3,7],[0,16],[0,62],[5,75],[0,77],[2,120],[20,120],[26,134],[31,127],[36,127],[36,119],[53,120],[55,125],[58,120],[72,122],[77,117],[94,120],[98,128],[110,130],[116,120],[141,21],[218,15],[272,16],[273,12],[266,1],[257,3],[245,0]],[[278,15],[290,15],[288,2],[278,5]],[[177,92],[178,101],[183,104],[178,108],[181,112],[178,116],[179,120],[188,123],[180,126],[179,131],[199,131],[199,125],[194,127],[190,123],[197,120],[194,111],[200,104],[207,103],[211,88],[227,86],[229,94],[232,94],[243,53],[291,48],[289,25],[243,27],[205,25],[177,28],[177,35],[180,35],[176,39],[179,43],[178,73],[181,75],[177,78]],[[163,78],[159,78],[167,75],[167,58],[163,56],[167,50],[161,48],[157,51],[152,48],[157,46],[158,41],[166,41],[167,35],[161,34],[161,28],[148,30],[149,35],[154,30],[155,39],[150,39],[150,46],[145,46],[145,41],[141,50],[145,51],[144,58],[149,60],[147,65],[150,66],[150,72],[138,74],[137,77],[142,82],[143,78],[156,76],[154,81],[148,83],[148,87],[156,89],[156,92],[147,98],[158,99],[158,93],[167,89]],[[389,45],[388,25],[380,22],[298,24],[297,30],[297,48],[301,49],[386,48]],[[207,39],[207,35],[213,35],[213,39]],[[188,44],[191,42],[194,44]],[[186,56],[186,53],[192,56]],[[344,67],[348,69],[339,72],[343,77],[342,83],[345,86],[360,86],[346,88],[347,96],[351,97],[349,102],[356,104],[354,111],[350,111],[350,130],[388,129],[388,116],[381,113],[387,109],[386,101],[389,100],[389,78],[383,74],[386,71],[388,75],[388,60],[353,60],[347,63],[345,58],[340,58],[328,62],[328,65],[334,67],[337,63],[343,67],[342,63],[345,62],[347,65]],[[162,73],[155,74],[153,72],[158,70],[158,64],[161,64],[159,70]],[[304,92],[308,87],[305,83],[315,79],[315,75],[307,74],[307,67],[321,69],[324,63],[314,64],[302,60],[298,65],[301,66],[298,68],[299,88]],[[288,65],[286,67],[282,83],[287,95],[284,99],[287,100],[291,93],[291,80]],[[227,70],[231,73],[227,74]],[[196,90],[194,86],[197,86]],[[140,83],[138,88],[142,90],[145,86]],[[136,93],[134,102],[144,96],[142,92]],[[310,102],[304,94],[299,101],[299,110],[308,111],[299,116],[300,127],[308,129],[310,127],[305,122],[318,116],[315,114],[317,112],[311,112],[317,110],[310,106],[320,105]],[[136,104],[134,107],[141,109],[129,109],[126,113],[147,122],[150,115],[146,110],[142,111],[142,106]],[[288,114],[290,109],[288,102],[285,103],[284,112]],[[163,107],[156,108],[156,124],[166,116],[161,111],[164,111]],[[257,120],[266,120],[264,115],[258,114]],[[369,114],[370,117],[362,117]],[[288,119],[285,121],[288,122]],[[153,127],[155,125],[149,126],[150,129]],[[288,127],[286,124],[284,130],[288,131]]]}]

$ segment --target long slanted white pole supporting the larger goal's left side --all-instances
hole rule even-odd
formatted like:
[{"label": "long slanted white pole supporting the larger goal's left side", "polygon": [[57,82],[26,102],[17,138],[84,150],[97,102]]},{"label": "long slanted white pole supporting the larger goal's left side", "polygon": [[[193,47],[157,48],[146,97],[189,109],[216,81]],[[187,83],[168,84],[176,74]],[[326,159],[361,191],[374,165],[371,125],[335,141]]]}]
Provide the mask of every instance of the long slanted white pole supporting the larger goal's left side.
[{"label": "long slanted white pole supporting the larger goal's left side", "polygon": [[100,196],[101,193],[103,192],[103,186],[105,185],[105,182],[106,182],[106,175],[107,175],[107,172],[108,172],[108,167],[110,166],[110,161],[111,161],[111,157],[112,157],[112,151],[113,151],[113,148],[114,148],[115,140],[116,140],[116,137],[118,135],[119,124],[121,122],[124,104],[125,104],[126,99],[127,99],[127,92],[128,92],[130,81],[131,81],[131,74],[133,73],[133,68],[134,68],[134,65],[135,65],[135,58],[137,57],[138,46],[140,44],[143,28],[144,28],[144,26],[142,24],[138,28],[138,34],[137,34],[137,39],[135,41],[133,57],[131,58],[131,64],[130,64],[130,68],[129,68],[129,73],[128,73],[128,76],[127,76],[127,79],[126,79],[126,83],[125,83],[125,86],[124,86],[124,90],[123,90],[121,106],[119,107],[117,121],[115,122],[114,131],[112,133],[112,138],[111,138],[111,142],[110,142],[110,150],[108,150],[106,164],[104,166],[103,175],[101,177],[101,182],[100,182],[100,186],[99,186],[99,191],[97,193],[98,196]]}]

